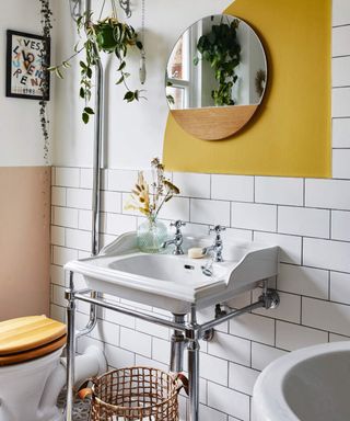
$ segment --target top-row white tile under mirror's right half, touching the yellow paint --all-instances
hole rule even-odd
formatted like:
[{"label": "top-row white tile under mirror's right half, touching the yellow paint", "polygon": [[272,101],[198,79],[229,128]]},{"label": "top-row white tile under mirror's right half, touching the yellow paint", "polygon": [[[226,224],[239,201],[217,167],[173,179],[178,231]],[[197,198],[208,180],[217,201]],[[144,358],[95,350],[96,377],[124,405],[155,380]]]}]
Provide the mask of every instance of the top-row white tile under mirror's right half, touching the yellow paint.
[{"label": "top-row white tile under mirror's right half, touching the yellow paint", "polygon": [[233,202],[253,202],[254,177],[212,174],[211,197]]}]

